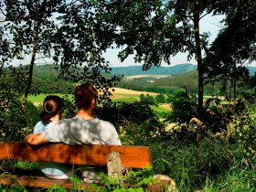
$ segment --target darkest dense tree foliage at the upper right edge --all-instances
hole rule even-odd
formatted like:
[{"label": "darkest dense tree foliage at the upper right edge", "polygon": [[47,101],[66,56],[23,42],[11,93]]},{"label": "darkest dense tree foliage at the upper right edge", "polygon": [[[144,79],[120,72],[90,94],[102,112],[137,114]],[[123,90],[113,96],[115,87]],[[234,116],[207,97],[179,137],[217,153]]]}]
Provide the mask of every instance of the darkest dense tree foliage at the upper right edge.
[{"label": "darkest dense tree foliage at the upper right edge", "polygon": [[226,15],[225,27],[208,48],[204,62],[208,80],[222,81],[225,90],[232,87],[232,96],[236,99],[237,80],[249,80],[245,67],[256,59],[256,3],[251,0],[224,3],[212,5],[216,13]]}]

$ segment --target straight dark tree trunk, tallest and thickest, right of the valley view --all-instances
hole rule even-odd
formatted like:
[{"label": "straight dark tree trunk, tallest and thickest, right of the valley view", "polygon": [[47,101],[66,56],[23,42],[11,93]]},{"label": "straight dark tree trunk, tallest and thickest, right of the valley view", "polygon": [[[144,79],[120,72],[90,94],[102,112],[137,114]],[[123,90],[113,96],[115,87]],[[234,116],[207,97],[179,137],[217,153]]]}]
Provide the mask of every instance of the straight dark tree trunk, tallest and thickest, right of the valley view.
[{"label": "straight dark tree trunk, tallest and thickest, right of the valley view", "polygon": [[198,103],[197,112],[201,116],[203,113],[203,96],[204,96],[204,69],[201,53],[201,43],[199,34],[199,20],[200,20],[200,5],[199,0],[195,0],[193,10],[193,22],[194,22],[194,35],[196,41],[196,56],[197,56],[197,70],[198,70]]}]

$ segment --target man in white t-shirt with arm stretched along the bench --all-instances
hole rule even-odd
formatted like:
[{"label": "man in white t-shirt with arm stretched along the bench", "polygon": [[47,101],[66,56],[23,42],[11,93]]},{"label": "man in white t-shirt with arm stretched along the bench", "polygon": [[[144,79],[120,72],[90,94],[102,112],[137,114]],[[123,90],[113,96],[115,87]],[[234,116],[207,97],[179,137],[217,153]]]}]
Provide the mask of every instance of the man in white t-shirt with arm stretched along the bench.
[{"label": "man in white t-shirt with arm stretched along the bench", "polygon": [[[77,115],[53,124],[43,133],[27,135],[25,138],[27,144],[37,145],[54,142],[122,145],[112,123],[92,116],[96,107],[98,92],[91,83],[78,85],[75,88],[74,96],[79,108]],[[80,167],[80,171],[88,183],[96,182],[99,179],[97,175],[99,170],[95,167]]]}]

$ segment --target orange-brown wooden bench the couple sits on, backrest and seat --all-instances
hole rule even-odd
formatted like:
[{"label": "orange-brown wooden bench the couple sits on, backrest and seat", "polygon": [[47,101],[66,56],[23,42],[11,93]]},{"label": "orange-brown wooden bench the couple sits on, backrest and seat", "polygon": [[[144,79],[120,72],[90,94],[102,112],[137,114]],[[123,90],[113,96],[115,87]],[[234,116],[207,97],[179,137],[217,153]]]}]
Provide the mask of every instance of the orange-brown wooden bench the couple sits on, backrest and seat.
[{"label": "orange-brown wooden bench the couple sits on, backrest and seat", "polygon": [[[0,160],[23,160],[29,162],[46,161],[72,165],[108,165],[109,155],[119,153],[123,166],[145,168],[152,165],[150,147],[115,145],[69,145],[41,144],[30,146],[26,143],[0,143]],[[23,187],[60,187],[74,189],[70,180],[49,179],[37,169],[0,168],[0,185]],[[169,180],[160,180],[146,187],[148,191],[161,191],[168,186]],[[80,189],[92,190],[91,185],[81,182]]]}]

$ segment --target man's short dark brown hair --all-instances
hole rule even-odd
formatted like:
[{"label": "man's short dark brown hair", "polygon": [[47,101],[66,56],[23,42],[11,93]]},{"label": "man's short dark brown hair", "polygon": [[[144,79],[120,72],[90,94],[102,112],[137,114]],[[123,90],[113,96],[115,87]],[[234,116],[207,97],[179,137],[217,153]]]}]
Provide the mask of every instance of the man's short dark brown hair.
[{"label": "man's short dark brown hair", "polygon": [[89,82],[78,85],[75,89],[75,101],[79,109],[89,109],[91,107],[91,101],[93,98],[97,99],[97,97],[98,91]]}]

